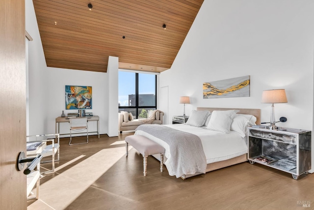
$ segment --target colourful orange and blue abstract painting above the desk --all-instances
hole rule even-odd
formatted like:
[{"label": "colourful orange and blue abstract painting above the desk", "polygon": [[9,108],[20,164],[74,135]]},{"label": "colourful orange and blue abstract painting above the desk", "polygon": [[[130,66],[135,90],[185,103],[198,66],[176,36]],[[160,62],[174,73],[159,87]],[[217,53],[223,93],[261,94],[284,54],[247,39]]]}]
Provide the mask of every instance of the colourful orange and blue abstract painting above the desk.
[{"label": "colourful orange and blue abstract painting above the desk", "polygon": [[66,85],[65,109],[92,109],[92,87]]}]

